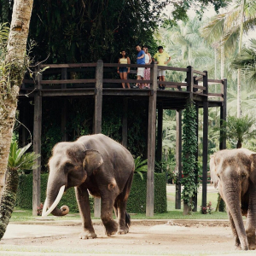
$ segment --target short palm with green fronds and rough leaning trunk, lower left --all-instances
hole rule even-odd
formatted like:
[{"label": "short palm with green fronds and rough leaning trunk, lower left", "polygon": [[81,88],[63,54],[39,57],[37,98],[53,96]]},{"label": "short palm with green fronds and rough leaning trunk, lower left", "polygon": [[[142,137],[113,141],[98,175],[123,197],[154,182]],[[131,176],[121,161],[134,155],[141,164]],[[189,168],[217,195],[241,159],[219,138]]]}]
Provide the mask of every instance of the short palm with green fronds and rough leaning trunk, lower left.
[{"label": "short palm with green fronds and rough leaning trunk, lower left", "polygon": [[24,148],[18,148],[16,142],[11,143],[8,161],[8,171],[6,183],[3,189],[3,196],[0,205],[0,239],[2,239],[6,227],[9,224],[9,219],[15,207],[16,194],[19,184],[19,173],[22,170],[31,170],[36,168],[35,160],[39,154],[26,153],[26,150],[31,146],[31,143]]}]

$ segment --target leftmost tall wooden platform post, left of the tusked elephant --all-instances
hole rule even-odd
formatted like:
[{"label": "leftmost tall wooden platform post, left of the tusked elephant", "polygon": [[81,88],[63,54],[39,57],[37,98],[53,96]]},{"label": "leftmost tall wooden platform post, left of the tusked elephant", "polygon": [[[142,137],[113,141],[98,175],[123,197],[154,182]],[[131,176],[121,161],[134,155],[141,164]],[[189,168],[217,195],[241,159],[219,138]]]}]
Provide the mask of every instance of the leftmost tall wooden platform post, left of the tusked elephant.
[{"label": "leftmost tall wooden platform post, left of the tusked elephant", "polygon": [[[39,73],[38,65],[37,84],[38,91],[34,96],[34,127],[33,127],[33,151],[41,154],[41,132],[42,132],[42,96],[40,95],[42,74]],[[32,192],[32,214],[37,216],[37,207],[41,203],[41,157],[36,160],[36,169],[33,169],[33,192]]]}]

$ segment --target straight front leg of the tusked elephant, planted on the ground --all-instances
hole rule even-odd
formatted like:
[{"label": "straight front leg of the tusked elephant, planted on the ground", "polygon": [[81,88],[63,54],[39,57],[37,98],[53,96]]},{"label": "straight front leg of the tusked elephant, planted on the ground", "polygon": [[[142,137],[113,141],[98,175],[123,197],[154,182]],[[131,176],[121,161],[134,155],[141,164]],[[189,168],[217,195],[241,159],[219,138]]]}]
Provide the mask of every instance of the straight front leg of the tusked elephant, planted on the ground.
[{"label": "straight front leg of the tusked elephant, planted on the ground", "polygon": [[79,212],[82,218],[83,232],[80,234],[79,238],[88,239],[88,238],[96,238],[95,230],[92,226],[91,218],[90,218],[90,201],[89,194],[86,188],[80,187],[75,188],[76,198],[79,205]]}]

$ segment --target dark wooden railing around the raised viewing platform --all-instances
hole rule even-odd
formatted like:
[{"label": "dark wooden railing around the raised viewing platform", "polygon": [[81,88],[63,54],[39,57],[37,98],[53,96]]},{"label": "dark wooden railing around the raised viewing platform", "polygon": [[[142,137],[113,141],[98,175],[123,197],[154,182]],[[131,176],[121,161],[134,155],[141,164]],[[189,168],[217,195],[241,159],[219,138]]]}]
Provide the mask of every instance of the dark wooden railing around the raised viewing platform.
[{"label": "dark wooden railing around the raised viewing platform", "polygon": [[[45,69],[44,72],[40,72],[40,70],[43,70],[45,67],[48,68]],[[130,67],[130,78],[126,80],[119,79],[117,67]],[[103,89],[115,88],[124,90],[120,88],[119,84],[142,83],[141,80],[136,79],[137,67],[148,67],[151,70],[151,74],[154,73],[154,68],[186,73],[184,82],[157,81],[157,84],[165,84],[166,89],[170,88],[177,92],[190,92],[194,95],[207,96],[211,100],[224,101],[224,93],[227,85],[226,79],[207,79],[207,71],[201,72],[193,69],[193,67],[164,67],[157,66],[156,64],[117,64],[103,63],[102,61],[97,61],[96,63],[38,64],[34,79],[24,79],[21,90],[93,89],[96,87],[96,70],[98,70],[98,76],[102,76]],[[133,79],[131,79],[131,77],[133,77]],[[150,80],[143,80],[143,83],[150,84],[150,88],[153,89],[152,76]],[[211,89],[212,84],[215,84],[215,87],[216,84],[220,84],[218,91]]]}]

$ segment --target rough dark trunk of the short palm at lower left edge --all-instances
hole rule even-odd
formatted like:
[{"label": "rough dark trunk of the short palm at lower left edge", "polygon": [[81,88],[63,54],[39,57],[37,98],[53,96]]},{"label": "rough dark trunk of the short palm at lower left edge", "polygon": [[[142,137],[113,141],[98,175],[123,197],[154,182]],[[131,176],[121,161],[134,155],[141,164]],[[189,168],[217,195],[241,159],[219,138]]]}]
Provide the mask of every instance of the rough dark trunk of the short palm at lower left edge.
[{"label": "rough dark trunk of the short palm at lower left edge", "polygon": [[19,175],[17,170],[8,170],[0,205],[0,240],[6,231],[15,207],[18,184]]}]

